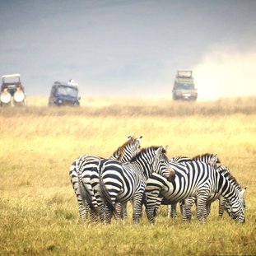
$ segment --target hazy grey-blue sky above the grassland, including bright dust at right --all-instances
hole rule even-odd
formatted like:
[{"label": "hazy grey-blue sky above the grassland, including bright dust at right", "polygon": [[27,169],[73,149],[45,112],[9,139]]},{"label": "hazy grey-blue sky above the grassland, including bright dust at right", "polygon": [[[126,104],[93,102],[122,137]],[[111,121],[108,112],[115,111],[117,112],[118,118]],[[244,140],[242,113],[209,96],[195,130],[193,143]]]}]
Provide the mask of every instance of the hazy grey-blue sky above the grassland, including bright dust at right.
[{"label": "hazy grey-blue sky above the grassland, including bright dust at right", "polygon": [[81,95],[167,97],[179,68],[202,100],[256,95],[254,0],[0,2],[0,74],[27,95],[72,78]]}]

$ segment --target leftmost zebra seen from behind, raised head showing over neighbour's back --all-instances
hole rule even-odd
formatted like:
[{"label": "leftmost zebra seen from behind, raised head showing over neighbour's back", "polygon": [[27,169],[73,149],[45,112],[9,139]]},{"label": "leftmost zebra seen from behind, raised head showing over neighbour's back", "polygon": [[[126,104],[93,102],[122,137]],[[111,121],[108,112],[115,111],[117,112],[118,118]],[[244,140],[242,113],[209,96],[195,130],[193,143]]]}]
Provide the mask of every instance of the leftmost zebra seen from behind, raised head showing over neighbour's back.
[{"label": "leftmost zebra seen from behind, raised head showing over neighbour's back", "polygon": [[[139,151],[141,141],[142,136],[138,138],[128,136],[127,142],[114,151],[110,159],[120,162],[130,161]],[[69,169],[69,177],[77,196],[78,211],[82,221],[86,221],[89,216],[96,221],[98,214],[102,212],[102,209],[98,207],[95,191],[91,185],[91,175],[93,173],[97,175],[97,167],[102,159],[99,156],[82,155],[73,161]]]}]

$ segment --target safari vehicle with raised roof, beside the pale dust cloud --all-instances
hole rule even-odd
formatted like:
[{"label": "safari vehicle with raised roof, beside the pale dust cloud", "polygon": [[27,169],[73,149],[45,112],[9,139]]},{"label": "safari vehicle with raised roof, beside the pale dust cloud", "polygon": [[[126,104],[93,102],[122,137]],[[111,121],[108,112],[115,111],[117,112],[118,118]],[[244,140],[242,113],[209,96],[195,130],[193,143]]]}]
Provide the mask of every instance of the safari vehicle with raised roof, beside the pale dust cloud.
[{"label": "safari vehicle with raised roof, beside the pale dust cloud", "polygon": [[192,70],[178,70],[173,88],[173,100],[197,100]]}]

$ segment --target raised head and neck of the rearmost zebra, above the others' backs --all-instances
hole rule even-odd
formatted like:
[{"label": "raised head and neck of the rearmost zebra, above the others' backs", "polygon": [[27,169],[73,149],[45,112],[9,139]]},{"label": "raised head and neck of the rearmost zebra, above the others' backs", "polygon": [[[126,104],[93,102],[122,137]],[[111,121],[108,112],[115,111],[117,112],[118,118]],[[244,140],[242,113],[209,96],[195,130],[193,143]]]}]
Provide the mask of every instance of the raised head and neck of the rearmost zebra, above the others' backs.
[{"label": "raised head and neck of the rearmost zebra, above the others' backs", "polygon": [[135,138],[129,135],[127,138],[127,142],[123,143],[121,147],[114,151],[111,159],[125,163],[131,161],[133,156],[135,156],[137,152],[140,151],[142,136]]}]

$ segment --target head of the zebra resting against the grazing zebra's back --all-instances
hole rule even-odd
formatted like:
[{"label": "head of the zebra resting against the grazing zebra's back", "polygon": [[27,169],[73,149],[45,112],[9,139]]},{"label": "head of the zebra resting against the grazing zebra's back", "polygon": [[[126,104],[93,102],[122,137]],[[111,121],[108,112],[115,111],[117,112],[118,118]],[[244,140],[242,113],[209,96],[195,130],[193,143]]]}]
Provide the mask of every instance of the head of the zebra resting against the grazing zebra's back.
[{"label": "head of the zebra resting against the grazing zebra's back", "polygon": [[171,168],[169,159],[165,155],[167,148],[168,146],[161,146],[156,150],[156,156],[153,161],[153,172],[169,179],[175,176],[175,171]]}]

